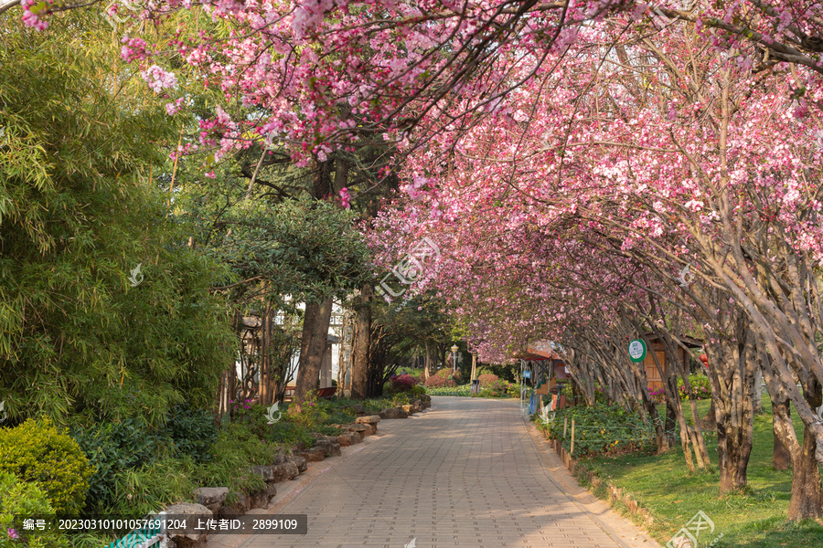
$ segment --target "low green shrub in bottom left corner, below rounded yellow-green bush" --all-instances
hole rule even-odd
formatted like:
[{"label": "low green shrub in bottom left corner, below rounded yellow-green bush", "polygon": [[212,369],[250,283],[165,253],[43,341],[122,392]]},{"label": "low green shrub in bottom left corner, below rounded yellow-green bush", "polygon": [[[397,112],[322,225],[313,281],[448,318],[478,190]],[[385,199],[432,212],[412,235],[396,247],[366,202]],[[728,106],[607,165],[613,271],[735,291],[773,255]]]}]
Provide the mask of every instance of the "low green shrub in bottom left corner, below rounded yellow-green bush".
[{"label": "low green shrub in bottom left corner, below rounded yellow-green bush", "polygon": [[48,518],[54,509],[46,492],[34,483],[21,481],[0,470],[0,548],[62,548],[68,546],[62,532],[25,531],[21,524],[28,518]]}]

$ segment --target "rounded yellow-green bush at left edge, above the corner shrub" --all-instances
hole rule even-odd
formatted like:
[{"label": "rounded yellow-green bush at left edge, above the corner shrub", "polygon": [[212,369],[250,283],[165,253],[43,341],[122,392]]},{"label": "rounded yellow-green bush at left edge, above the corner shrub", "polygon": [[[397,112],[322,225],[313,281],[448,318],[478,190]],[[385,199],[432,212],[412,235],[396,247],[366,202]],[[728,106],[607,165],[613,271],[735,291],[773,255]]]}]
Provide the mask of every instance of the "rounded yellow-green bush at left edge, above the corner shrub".
[{"label": "rounded yellow-green bush at left edge, above the corner shrub", "polygon": [[83,509],[92,472],[89,459],[48,418],[29,418],[18,427],[0,429],[4,470],[42,489],[58,514],[75,516]]}]

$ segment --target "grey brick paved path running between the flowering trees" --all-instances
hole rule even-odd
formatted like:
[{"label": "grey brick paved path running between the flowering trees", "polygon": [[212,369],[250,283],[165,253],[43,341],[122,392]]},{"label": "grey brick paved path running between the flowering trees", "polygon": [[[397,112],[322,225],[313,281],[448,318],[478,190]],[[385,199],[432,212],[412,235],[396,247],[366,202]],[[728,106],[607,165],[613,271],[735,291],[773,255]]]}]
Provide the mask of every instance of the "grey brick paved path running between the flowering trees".
[{"label": "grey brick paved path running between the flowering trees", "polygon": [[552,481],[517,401],[434,397],[379,431],[278,508],[307,514],[308,534],[254,535],[242,548],[628,545]]}]

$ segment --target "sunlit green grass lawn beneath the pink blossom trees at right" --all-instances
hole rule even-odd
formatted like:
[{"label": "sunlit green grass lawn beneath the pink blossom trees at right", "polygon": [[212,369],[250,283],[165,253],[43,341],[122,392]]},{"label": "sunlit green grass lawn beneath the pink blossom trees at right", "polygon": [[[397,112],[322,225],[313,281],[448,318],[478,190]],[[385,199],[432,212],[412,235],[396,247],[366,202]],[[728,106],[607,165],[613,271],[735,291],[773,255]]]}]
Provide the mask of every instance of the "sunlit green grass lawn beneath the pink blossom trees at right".
[{"label": "sunlit green grass lawn beneath the pink blossom trees at right", "polygon": [[[686,525],[698,511],[704,511],[715,524],[714,532],[700,535],[700,547],[716,537],[717,548],[823,546],[821,522],[787,523],[786,511],[791,493],[791,470],[772,468],[772,405],[764,394],[764,412],[754,417],[754,448],[749,460],[749,487],[745,492],[720,497],[717,466],[717,436],[704,432],[712,469],[689,474],[682,449],[665,455],[625,455],[582,459],[585,469],[634,495],[651,512],[654,524],[641,523],[663,545]],[[700,416],[709,411],[709,401],[698,402]],[[664,410],[665,411],[665,410]],[[795,429],[802,438],[802,424],[795,415]],[[605,489],[594,494],[606,498]],[[625,508],[617,507],[625,514]],[[694,547],[697,548],[697,547]]]}]

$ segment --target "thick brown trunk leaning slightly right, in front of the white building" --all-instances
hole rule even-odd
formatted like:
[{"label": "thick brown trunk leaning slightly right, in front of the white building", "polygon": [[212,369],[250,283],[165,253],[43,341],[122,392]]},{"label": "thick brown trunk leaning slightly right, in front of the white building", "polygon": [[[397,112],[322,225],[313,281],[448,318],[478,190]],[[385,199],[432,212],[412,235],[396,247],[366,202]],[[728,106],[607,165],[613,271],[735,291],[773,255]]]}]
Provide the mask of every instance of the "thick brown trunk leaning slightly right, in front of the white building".
[{"label": "thick brown trunk leaning slightly right, in front of the white building", "polygon": [[303,340],[300,342],[300,369],[294,388],[294,404],[300,408],[302,402],[320,387],[320,368],[326,355],[328,324],[331,321],[332,300],[306,303],[303,318]]}]

